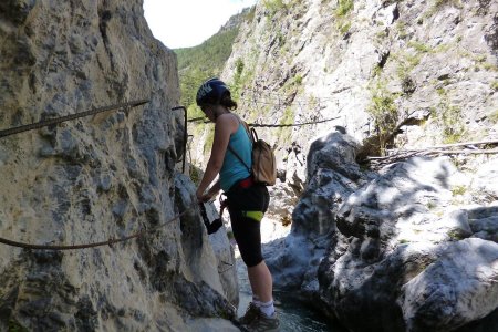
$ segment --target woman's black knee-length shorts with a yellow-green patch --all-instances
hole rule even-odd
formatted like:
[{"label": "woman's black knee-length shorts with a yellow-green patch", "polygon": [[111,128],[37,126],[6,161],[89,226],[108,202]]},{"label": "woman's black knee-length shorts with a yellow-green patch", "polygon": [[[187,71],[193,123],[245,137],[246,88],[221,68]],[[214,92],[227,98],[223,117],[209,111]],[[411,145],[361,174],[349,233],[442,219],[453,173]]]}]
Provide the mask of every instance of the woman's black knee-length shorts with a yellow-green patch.
[{"label": "woman's black knee-length shorts with a yellow-green patch", "polygon": [[[239,247],[240,256],[249,268],[259,264],[261,253],[261,220],[267,211],[270,195],[264,185],[253,184],[249,188],[234,185],[227,191],[231,229]],[[259,214],[258,214],[259,212]],[[259,216],[258,216],[259,215]]]}]

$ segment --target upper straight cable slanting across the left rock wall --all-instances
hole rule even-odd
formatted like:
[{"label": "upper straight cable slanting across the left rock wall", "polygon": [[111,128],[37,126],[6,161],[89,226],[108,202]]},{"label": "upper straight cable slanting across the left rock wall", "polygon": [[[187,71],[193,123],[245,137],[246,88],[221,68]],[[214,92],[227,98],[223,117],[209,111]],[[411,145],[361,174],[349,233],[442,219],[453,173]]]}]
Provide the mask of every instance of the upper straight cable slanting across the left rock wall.
[{"label": "upper straight cable slanting across the left rock wall", "polygon": [[37,123],[21,125],[18,127],[0,131],[0,138],[7,137],[10,135],[14,135],[14,134],[19,134],[19,133],[23,133],[23,132],[39,129],[39,128],[42,128],[45,126],[59,124],[59,123],[66,122],[70,120],[75,120],[75,118],[80,118],[80,117],[84,117],[84,116],[89,116],[89,115],[94,115],[94,114],[102,113],[102,112],[120,110],[120,108],[128,110],[132,107],[137,107],[137,106],[144,105],[144,104],[147,104],[148,102],[149,102],[148,100],[137,100],[137,101],[132,101],[132,102],[126,102],[126,103],[121,103],[121,104],[114,104],[114,105],[110,105],[110,106],[92,108],[90,111],[64,115],[61,117],[43,120],[43,121],[40,121]]}]

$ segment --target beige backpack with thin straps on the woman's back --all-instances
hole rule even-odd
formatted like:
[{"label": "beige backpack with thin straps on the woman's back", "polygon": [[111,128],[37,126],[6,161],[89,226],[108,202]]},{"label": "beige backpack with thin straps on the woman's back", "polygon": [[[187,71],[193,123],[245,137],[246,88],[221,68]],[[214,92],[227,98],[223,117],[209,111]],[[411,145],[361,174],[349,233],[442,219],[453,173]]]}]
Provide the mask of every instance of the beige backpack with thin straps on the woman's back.
[{"label": "beige backpack with thin straps on the woman's back", "polygon": [[258,138],[255,128],[249,129],[249,126],[243,121],[240,121],[240,123],[246,128],[247,135],[252,142],[252,169],[247,166],[230,145],[228,145],[228,149],[246,166],[256,183],[273,186],[277,181],[277,160],[273,149],[267,142]]}]

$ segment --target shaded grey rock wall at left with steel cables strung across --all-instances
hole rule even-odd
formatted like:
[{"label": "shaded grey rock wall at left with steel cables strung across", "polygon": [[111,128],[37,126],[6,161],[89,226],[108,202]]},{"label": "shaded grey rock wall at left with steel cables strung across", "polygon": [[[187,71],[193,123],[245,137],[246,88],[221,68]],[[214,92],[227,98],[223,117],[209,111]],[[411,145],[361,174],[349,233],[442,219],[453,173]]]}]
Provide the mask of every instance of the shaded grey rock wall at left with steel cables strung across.
[{"label": "shaded grey rock wall at left with steel cables strung across", "polygon": [[1,237],[73,245],[147,230],[112,248],[0,246],[0,330],[195,331],[234,315],[235,272],[218,268],[234,255],[222,235],[211,245],[193,184],[175,175],[176,60],[142,4],[0,3],[2,128],[149,100],[0,138]]}]

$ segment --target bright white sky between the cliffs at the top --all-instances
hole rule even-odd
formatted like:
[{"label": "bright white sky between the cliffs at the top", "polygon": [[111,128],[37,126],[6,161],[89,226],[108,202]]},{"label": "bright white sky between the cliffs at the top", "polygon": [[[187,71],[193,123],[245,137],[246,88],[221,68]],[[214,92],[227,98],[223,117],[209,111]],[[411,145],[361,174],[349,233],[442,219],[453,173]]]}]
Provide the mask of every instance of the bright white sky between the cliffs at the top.
[{"label": "bright white sky between the cliffs at the top", "polygon": [[144,0],[154,37],[169,49],[196,46],[257,0]]}]

